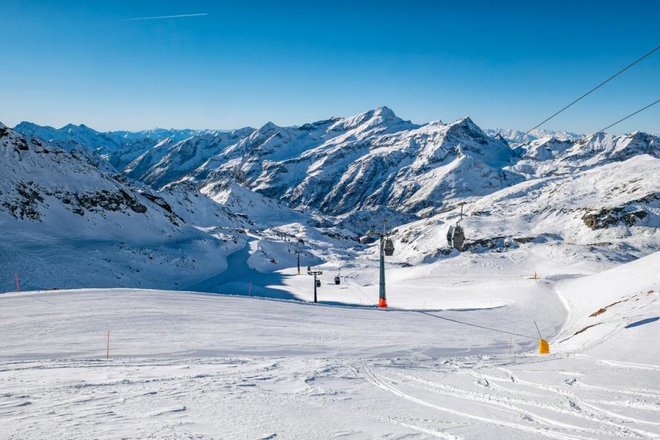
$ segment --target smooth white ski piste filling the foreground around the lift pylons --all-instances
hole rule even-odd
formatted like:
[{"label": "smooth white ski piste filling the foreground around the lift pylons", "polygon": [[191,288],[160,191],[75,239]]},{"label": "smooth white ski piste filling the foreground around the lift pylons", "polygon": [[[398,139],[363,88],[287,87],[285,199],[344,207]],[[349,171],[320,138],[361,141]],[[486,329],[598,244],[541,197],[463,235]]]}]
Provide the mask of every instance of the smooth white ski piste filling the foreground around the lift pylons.
[{"label": "smooth white ski piste filling the foreground around the lift pylons", "polygon": [[314,304],[256,248],[180,291],[0,295],[0,437],[660,437],[660,253],[388,265],[378,309],[373,261],[318,266]]}]

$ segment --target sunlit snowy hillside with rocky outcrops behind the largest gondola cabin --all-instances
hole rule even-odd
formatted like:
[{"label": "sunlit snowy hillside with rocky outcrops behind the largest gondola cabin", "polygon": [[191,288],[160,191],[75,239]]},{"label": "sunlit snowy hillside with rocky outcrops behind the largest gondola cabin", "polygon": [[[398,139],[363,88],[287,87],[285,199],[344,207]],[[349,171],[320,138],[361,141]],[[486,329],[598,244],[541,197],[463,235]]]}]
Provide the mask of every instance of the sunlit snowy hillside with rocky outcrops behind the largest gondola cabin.
[{"label": "sunlit snowy hillside with rocky outcrops behind the largest gondola cabin", "polygon": [[[660,250],[660,159],[638,155],[569,175],[523,181],[465,203],[466,250],[538,247],[630,261]],[[453,258],[447,230],[459,206],[397,228],[395,261]],[[527,252],[527,251],[525,251]]]}]

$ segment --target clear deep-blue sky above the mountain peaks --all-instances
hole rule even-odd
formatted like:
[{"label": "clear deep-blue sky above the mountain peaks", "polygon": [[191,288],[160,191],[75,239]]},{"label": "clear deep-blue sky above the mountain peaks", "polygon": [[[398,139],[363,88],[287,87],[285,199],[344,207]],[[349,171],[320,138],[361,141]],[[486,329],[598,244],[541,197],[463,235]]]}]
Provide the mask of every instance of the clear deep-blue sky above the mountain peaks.
[{"label": "clear deep-blue sky above the mountain peaks", "polygon": [[[208,14],[126,21],[137,17]],[[303,124],[391,107],[529,129],[660,44],[660,1],[30,1],[0,9],[0,121]],[[544,128],[660,98],[660,51]],[[660,104],[611,131],[660,132]]]}]

